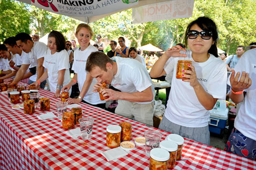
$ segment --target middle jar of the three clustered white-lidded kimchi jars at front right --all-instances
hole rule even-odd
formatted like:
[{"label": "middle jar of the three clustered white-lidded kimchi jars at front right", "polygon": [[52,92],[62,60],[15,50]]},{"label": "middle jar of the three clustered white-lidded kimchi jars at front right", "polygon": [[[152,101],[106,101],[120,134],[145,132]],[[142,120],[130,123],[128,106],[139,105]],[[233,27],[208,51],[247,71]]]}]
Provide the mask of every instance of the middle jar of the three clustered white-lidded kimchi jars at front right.
[{"label": "middle jar of the three clustered white-lidded kimchi jars at front right", "polygon": [[176,165],[178,144],[170,140],[163,140],[160,142],[160,148],[165,149],[170,154],[168,169],[174,168]]}]

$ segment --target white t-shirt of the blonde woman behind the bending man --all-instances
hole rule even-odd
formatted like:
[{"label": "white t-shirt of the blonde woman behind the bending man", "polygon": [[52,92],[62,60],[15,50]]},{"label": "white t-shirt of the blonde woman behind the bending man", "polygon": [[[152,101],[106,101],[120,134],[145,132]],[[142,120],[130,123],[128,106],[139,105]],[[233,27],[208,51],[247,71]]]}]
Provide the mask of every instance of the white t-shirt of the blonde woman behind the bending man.
[{"label": "white t-shirt of the blonde woman behind the bending man", "polygon": [[[72,70],[74,70],[74,72],[77,74],[77,83],[78,83],[78,87],[79,90],[82,90],[82,86],[84,81],[86,81],[86,62],[87,59],[89,57],[89,55],[92,52],[97,52],[97,48],[94,47],[93,45],[89,45],[86,50],[81,51],[80,48],[76,51],[74,51],[74,62],[72,65]],[[93,78],[93,81],[86,93],[86,95],[84,95],[83,100],[93,104],[93,105],[97,105],[97,104],[101,104],[101,103],[105,103],[105,101],[101,101],[100,97],[99,97],[99,93],[93,92],[93,86],[97,83],[97,79]]]}]

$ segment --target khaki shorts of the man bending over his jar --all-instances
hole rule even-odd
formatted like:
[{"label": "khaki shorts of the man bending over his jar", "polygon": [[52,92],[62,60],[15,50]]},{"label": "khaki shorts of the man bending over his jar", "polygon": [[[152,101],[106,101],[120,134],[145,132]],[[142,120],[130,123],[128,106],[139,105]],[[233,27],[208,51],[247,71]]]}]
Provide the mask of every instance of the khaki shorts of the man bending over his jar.
[{"label": "khaki shorts of the man bending over his jar", "polygon": [[135,119],[146,125],[153,126],[154,102],[139,104],[124,100],[118,100],[115,113],[127,118]]}]

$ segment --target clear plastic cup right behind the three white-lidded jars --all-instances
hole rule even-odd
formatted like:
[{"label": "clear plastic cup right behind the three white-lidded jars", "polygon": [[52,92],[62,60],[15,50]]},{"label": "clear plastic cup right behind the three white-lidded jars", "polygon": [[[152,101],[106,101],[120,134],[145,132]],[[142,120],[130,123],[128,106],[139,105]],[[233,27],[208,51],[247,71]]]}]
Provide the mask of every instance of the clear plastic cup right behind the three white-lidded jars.
[{"label": "clear plastic cup right behind the three white-lidded jars", "polygon": [[159,143],[162,135],[158,131],[146,131],[144,132],[144,136],[146,139],[146,143],[145,143],[146,156],[150,156],[150,151],[152,149],[159,148]]}]

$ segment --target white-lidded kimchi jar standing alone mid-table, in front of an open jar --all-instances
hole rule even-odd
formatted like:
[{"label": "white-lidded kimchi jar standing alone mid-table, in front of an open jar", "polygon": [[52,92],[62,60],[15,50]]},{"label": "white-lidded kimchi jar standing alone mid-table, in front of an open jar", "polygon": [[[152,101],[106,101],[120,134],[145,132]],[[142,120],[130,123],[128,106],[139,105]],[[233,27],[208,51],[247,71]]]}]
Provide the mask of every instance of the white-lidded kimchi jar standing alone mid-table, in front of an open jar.
[{"label": "white-lidded kimchi jar standing alone mid-table, in front of an open jar", "polygon": [[109,148],[117,148],[121,141],[121,127],[118,125],[110,125],[106,127],[106,146]]}]

